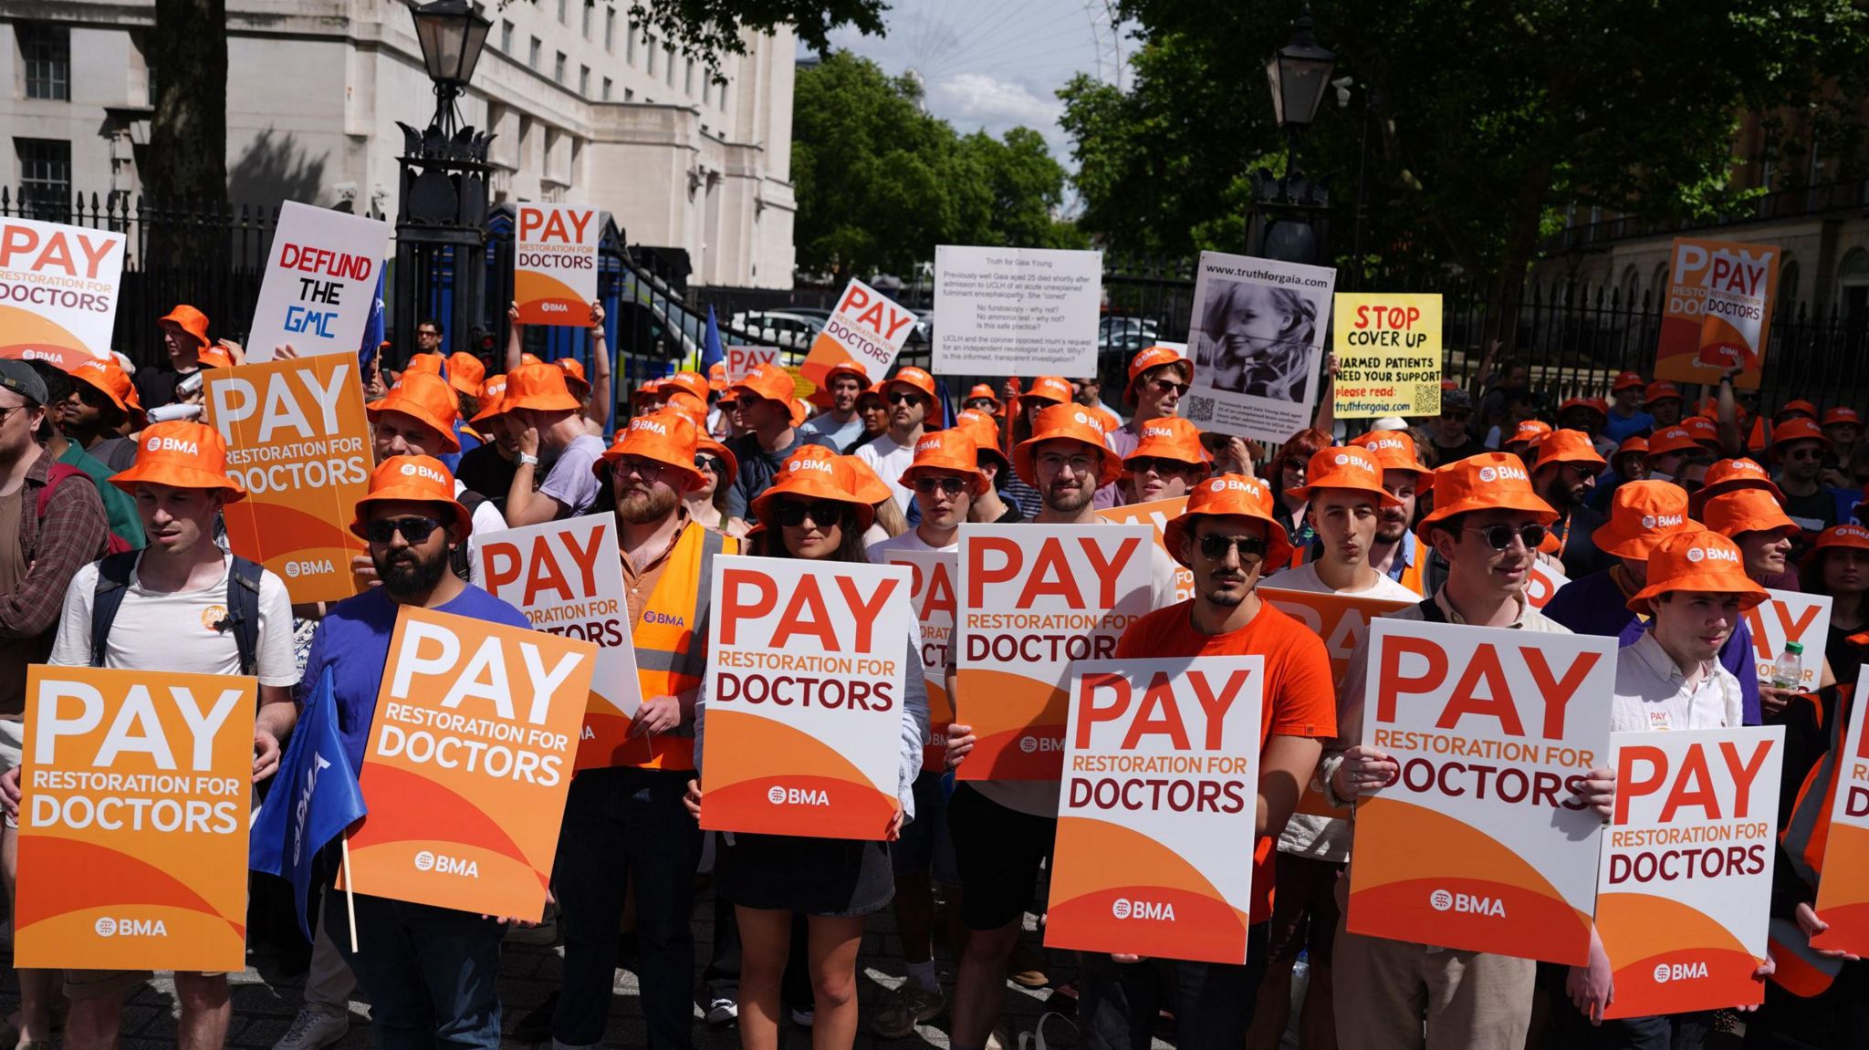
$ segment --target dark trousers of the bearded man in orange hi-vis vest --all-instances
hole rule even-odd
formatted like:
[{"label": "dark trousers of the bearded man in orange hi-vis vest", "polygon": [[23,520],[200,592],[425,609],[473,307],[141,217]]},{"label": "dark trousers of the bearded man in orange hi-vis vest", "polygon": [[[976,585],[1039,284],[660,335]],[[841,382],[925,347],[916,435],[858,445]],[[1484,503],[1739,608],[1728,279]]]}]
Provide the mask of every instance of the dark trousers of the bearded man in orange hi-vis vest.
[{"label": "dark trousers of the bearded man in orange hi-vis vest", "polygon": [[564,970],[551,1039],[604,1041],[617,979],[617,923],[635,886],[637,981],[650,1050],[693,1046],[693,886],[701,828],[682,805],[686,770],[585,770],[564,800],[551,884],[564,915]]}]

